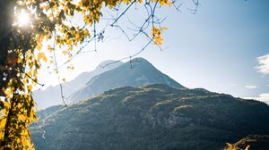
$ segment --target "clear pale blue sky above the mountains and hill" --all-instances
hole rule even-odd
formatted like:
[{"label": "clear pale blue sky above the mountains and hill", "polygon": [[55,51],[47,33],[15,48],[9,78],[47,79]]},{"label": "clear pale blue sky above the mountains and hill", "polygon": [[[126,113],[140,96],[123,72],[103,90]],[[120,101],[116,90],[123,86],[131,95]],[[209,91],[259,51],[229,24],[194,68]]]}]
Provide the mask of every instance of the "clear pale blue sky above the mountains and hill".
[{"label": "clear pale blue sky above the mountains and hill", "polygon": [[[162,25],[169,28],[163,35],[168,48],[160,51],[148,46],[139,56],[183,86],[269,100],[269,56],[265,56],[269,54],[269,1],[201,0],[196,14],[187,7],[191,5],[183,5],[182,12],[167,7],[159,10],[161,16],[167,16]],[[127,16],[134,22],[143,21],[143,9],[138,7],[137,13],[130,11]],[[101,22],[99,29],[103,26]],[[73,79],[104,60],[134,54],[146,43],[143,36],[133,42],[120,36],[119,29],[106,30],[106,40],[97,43],[96,53],[78,55],[73,61],[75,70],[63,69],[60,75]],[[40,75],[47,86],[56,84],[55,79],[44,72]]]}]

